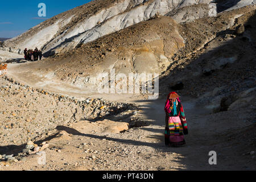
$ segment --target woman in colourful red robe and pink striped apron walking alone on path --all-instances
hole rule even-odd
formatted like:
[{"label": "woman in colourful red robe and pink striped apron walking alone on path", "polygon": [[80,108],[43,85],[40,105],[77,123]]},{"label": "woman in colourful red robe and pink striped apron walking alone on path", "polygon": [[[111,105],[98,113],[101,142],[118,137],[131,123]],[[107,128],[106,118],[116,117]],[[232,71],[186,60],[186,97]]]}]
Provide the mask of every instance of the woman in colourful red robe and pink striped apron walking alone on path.
[{"label": "woman in colourful red robe and pink striped apron walking alone on path", "polygon": [[188,134],[188,127],[183,106],[176,92],[168,94],[164,110],[166,111],[165,143],[171,147],[182,146],[185,144],[184,135]]}]

